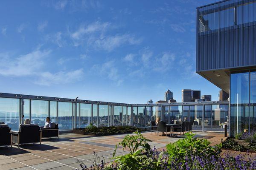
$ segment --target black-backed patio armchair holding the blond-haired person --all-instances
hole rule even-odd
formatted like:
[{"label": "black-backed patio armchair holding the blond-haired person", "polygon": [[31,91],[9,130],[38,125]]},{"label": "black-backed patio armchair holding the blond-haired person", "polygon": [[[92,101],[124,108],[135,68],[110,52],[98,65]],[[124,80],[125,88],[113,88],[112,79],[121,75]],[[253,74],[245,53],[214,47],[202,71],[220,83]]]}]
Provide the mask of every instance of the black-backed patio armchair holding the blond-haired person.
[{"label": "black-backed patio armchair holding the blond-haired person", "polygon": [[40,127],[38,125],[25,125],[21,124],[19,127],[19,131],[12,131],[12,143],[18,144],[29,144],[40,142]]}]

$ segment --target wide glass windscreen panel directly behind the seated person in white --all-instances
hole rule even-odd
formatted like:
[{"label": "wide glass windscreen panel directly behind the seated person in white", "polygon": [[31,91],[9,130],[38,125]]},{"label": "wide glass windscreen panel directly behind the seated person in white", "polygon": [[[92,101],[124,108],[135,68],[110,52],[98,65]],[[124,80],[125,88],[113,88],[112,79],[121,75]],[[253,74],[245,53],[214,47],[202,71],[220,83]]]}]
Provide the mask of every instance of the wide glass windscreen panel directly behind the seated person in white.
[{"label": "wide glass windscreen panel directly behind the seated person in white", "polygon": [[44,126],[48,117],[48,101],[31,100],[31,123]]}]

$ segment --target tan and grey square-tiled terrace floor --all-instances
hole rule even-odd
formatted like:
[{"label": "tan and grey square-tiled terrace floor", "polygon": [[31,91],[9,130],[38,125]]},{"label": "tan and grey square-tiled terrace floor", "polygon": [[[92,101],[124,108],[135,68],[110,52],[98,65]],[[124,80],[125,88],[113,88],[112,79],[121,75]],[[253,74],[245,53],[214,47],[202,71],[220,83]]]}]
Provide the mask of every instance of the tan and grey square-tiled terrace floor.
[{"label": "tan and grey square-tiled terrace floor", "polygon": [[[211,145],[219,144],[224,133],[195,132],[196,137],[208,139]],[[145,132],[143,135],[151,139],[151,147],[157,150],[165,149],[166,144],[180,138],[157,136],[154,132]],[[92,137],[74,133],[61,134],[59,139],[43,139],[42,144],[25,144],[0,148],[0,170],[75,170],[79,169],[77,160],[87,167],[93,164],[95,156],[104,156],[105,162],[112,161],[115,145],[125,135]],[[226,152],[226,151],[225,151]],[[128,150],[118,148],[116,155],[129,153]],[[224,155],[224,153],[222,153]],[[101,157],[102,159],[102,157]],[[97,160],[96,160],[97,161]],[[100,163],[100,160],[97,161]],[[81,169],[81,168],[80,168]]]}]

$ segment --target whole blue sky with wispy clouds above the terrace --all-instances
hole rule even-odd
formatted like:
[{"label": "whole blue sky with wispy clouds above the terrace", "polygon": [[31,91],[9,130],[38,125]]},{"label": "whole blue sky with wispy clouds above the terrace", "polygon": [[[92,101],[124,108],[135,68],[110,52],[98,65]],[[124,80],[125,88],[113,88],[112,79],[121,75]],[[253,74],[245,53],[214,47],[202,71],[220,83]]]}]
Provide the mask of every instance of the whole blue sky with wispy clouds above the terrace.
[{"label": "whole blue sky with wispy clouds above the terrace", "polygon": [[0,92],[145,103],[218,91],[195,73],[196,7],[216,0],[1,1]]}]

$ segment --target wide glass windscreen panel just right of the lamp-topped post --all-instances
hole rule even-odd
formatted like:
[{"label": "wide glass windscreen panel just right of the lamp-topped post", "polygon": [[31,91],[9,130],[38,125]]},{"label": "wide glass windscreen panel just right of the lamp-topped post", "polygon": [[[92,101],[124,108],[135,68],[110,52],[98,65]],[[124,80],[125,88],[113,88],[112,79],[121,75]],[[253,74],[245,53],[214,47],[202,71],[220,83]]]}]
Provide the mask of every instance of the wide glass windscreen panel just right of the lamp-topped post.
[{"label": "wide glass windscreen panel just right of the lamp-topped post", "polygon": [[92,105],[80,104],[80,128],[87,127],[92,122]]}]

